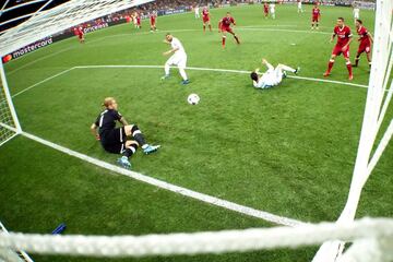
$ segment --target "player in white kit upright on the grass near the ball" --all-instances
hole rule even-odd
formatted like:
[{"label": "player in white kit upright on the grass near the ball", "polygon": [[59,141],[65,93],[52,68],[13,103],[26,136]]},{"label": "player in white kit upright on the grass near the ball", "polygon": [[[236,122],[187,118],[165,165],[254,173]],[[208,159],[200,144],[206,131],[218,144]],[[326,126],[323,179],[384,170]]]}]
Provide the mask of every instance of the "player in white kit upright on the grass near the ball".
[{"label": "player in white kit upright on the grass near the ball", "polygon": [[179,69],[179,73],[182,78],[181,84],[186,85],[189,84],[190,81],[186,74],[186,67],[187,67],[187,53],[181,45],[180,40],[176,37],[174,37],[171,34],[167,34],[165,36],[164,43],[171,46],[171,49],[169,51],[164,52],[164,56],[170,56],[170,58],[165,63],[165,75],[162,78],[162,80],[166,80],[169,78],[169,70],[170,66],[177,66]]}]

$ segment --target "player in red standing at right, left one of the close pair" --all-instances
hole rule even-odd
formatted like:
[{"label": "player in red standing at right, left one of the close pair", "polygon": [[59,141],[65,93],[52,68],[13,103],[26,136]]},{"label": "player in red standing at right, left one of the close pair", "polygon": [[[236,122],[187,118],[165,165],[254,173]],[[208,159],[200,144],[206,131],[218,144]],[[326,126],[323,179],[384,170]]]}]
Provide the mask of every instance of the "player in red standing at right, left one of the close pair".
[{"label": "player in red standing at right, left one of the close pair", "polygon": [[350,33],[350,28],[344,24],[344,19],[343,17],[337,19],[337,25],[334,27],[333,35],[332,35],[332,38],[331,38],[331,43],[333,41],[335,36],[337,36],[337,44],[333,48],[332,57],[329,60],[327,70],[323,74],[323,76],[329,76],[330,75],[330,73],[332,71],[332,68],[333,68],[333,64],[334,64],[334,59],[337,56],[340,56],[341,53],[343,53],[344,59],[346,61],[346,67],[348,69],[349,80],[353,80],[354,75],[353,75],[353,72],[352,72],[352,64],[350,64],[350,60],[349,60],[349,44],[352,41],[352,36],[353,35]]}]

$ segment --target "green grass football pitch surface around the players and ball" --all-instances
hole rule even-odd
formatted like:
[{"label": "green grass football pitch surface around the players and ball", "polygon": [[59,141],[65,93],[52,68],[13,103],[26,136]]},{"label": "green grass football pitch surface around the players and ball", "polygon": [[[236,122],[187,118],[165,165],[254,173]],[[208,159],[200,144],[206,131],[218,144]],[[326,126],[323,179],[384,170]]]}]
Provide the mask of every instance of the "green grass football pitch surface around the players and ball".
[{"label": "green grass football pitch surface around the players and ball", "polygon": [[[265,57],[273,64],[301,67],[300,76],[322,79],[337,16],[355,31],[349,8],[322,7],[319,32],[310,31],[311,5],[277,5],[264,20],[261,5],[212,10],[214,32],[203,34],[193,13],[129,24],[67,39],[5,66],[12,94],[78,66],[162,66],[166,32],[180,38],[188,66],[253,70]],[[230,10],[235,32],[221,47],[217,21]],[[373,32],[373,12],[361,11]],[[354,32],[355,33],[355,32]],[[355,39],[357,37],[355,36]],[[352,45],[352,59],[357,41]],[[368,84],[365,57],[353,83]],[[24,131],[83,154],[114,163],[90,133],[106,96],[138,123],[147,140],[162,144],[151,156],[138,153],[133,170],[242,205],[303,222],[335,221],[344,207],[359,140],[366,88],[286,79],[272,90],[251,86],[247,74],[188,70],[181,86],[177,70],[162,82],[163,69],[74,69],[14,97]],[[330,80],[347,81],[343,57]],[[198,106],[186,99],[201,97]],[[388,118],[393,116],[389,109]],[[386,127],[388,122],[383,124]],[[358,210],[362,216],[393,216],[393,146],[368,181]],[[13,231],[143,235],[273,226],[99,169],[17,136],[0,147],[0,221]],[[115,175],[115,176],[112,176]],[[147,258],[124,261],[310,261],[318,247],[223,255]],[[96,261],[40,257],[36,261]],[[98,260],[104,261],[104,260]]]}]

